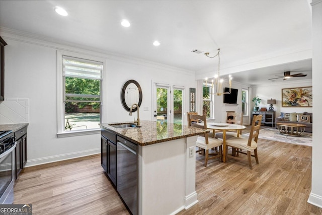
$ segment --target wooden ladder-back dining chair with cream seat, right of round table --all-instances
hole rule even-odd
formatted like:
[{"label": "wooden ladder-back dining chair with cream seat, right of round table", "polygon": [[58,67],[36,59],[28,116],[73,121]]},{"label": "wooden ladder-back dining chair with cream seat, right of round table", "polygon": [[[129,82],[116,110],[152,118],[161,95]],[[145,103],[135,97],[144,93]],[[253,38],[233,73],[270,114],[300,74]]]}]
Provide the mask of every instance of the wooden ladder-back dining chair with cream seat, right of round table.
[{"label": "wooden ladder-back dining chair with cream seat, right of round table", "polygon": [[[239,156],[236,157],[234,153],[232,153],[231,155],[228,155],[227,153],[228,147],[231,147],[232,149],[235,149],[236,152],[238,152],[238,154],[247,155],[248,165],[250,169],[253,169],[251,157],[255,157],[256,163],[259,164],[258,156],[257,156],[257,140],[258,140],[258,134],[260,132],[262,117],[263,117],[262,115],[258,115],[253,118],[251,132],[248,138],[232,137],[226,140],[226,161],[228,161],[228,158],[244,160]],[[245,150],[247,151],[247,153],[242,152],[241,150]],[[252,155],[252,152],[254,152],[254,155]]]}]

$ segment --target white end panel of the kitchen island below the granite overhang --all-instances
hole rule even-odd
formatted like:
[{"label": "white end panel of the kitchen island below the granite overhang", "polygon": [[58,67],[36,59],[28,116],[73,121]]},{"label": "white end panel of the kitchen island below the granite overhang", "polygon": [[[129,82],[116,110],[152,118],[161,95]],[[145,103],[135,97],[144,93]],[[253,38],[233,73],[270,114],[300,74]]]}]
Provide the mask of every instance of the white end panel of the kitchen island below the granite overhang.
[{"label": "white end panel of the kitchen island below the granite overhang", "polygon": [[[139,147],[139,214],[175,214],[198,202],[196,139],[191,136]],[[192,157],[189,147],[193,147]]]}]

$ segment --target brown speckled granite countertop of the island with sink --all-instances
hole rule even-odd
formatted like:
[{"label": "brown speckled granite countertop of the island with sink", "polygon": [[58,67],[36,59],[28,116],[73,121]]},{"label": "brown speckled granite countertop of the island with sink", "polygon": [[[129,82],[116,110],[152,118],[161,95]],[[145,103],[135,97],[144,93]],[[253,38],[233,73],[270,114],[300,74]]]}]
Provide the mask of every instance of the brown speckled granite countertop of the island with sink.
[{"label": "brown speckled granite countertop of the island with sink", "polygon": [[140,121],[141,127],[137,128],[115,128],[109,125],[123,123],[133,122],[109,122],[101,123],[100,125],[101,128],[107,129],[140,146],[157,144],[158,142],[165,142],[209,132],[208,130],[201,128],[162,121]]}]

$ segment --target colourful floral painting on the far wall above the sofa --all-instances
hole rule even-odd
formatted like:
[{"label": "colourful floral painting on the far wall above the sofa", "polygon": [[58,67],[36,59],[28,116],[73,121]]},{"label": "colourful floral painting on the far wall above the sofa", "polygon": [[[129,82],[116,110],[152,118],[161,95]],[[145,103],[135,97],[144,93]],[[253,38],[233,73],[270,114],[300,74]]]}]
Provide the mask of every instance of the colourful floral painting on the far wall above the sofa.
[{"label": "colourful floral painting on the far wall above the sofa", "polygon": [[282,89],[282,107],[312,107],[312,87]]}]

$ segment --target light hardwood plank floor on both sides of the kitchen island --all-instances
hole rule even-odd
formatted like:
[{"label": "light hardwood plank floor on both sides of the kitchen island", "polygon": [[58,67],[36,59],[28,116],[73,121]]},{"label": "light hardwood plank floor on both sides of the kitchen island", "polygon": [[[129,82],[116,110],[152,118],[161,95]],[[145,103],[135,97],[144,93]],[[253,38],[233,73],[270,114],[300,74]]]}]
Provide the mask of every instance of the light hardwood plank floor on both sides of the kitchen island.
[{"label": "light hardwood plank floor on both sides of the kitchen island", "polygon": [[[220,163],[197,155],[199,202],[179,214],[322,214],[307,203],[311,147],[259,140],[259,162]],[[243,156],[243,155],[240,155]],[[33,214],[129,214],[103,173],[100,155],[26,168],[15,184],[15,204]]]}]

